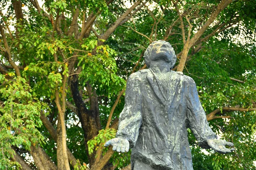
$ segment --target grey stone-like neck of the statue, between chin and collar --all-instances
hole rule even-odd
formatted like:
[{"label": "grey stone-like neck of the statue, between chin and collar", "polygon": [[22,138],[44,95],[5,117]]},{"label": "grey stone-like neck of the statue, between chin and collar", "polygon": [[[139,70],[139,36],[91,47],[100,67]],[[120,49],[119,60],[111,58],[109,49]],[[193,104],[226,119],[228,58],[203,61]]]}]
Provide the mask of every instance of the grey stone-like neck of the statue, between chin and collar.
[{"label": "grey stone-like neck of the statue, between chin and collar", "polygon": [[170,65],[169,63],[158,60],[158,61],[151,61],[150,62],[150,68],[154,73],[167,73],[170,71]]}]

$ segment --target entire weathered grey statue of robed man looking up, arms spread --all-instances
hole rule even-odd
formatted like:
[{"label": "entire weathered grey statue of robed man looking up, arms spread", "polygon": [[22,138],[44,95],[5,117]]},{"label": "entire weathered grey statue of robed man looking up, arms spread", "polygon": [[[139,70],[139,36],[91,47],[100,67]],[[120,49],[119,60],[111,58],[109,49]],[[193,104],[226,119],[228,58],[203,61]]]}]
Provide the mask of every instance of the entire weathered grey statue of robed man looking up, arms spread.
[{"label": "entire weathered grey statue of robed man looking up, arms spread", "polygon": [[194,80],[171,70],[176,55],[169,42],[152,42],[144,57],[148,69],[128,78],[116,138],[105,147],[122,153],[132,148],[132,170],[193,170],[188,127],[201,147],[234,150],[209,127]]}]

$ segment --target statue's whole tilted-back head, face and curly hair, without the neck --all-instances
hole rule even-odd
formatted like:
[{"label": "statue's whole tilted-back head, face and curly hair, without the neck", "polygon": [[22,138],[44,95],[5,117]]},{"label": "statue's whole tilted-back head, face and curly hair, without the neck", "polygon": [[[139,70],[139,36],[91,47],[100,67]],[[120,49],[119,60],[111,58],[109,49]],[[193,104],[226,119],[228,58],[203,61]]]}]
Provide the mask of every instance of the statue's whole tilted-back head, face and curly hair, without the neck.
[{"label": "statue's whole tilted-back head, face and curly hair, without the neck", "polygon": [[169,42],[158,40],[153,41],[144,53],[145,63],[150,68],[151,61],[165,60],[173,68],[176,62],[175,51]]}]

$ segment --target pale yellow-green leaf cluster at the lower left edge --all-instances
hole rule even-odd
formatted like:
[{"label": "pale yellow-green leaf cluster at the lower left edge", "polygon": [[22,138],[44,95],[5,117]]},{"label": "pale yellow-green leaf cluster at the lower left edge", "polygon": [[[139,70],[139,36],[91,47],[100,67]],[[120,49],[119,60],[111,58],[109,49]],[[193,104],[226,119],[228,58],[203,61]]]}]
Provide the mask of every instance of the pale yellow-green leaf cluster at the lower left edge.
[{"label": "pale yellow-green leaf cluster at the lower left edge", "polygon": [[[9,74],[12,75],[12,74]],[[41,110],[45,105],[32,96],[32,90],[26,79],[15,77],[6,79],[0,74],[0,169],[17,166],[9,159],[15,154],[12,147],[24,147],[43,144],[44,137],[37,129],[41,127]],[[12,146],[12,147],[11,147]]]}]

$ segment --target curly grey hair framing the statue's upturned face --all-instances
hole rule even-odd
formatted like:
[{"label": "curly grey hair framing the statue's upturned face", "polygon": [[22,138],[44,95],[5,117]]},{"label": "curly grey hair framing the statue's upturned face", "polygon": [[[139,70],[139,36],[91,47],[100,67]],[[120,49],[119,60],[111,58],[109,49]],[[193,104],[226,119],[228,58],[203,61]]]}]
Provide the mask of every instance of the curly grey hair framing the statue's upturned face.
[{"label": "curly grey hair framing the statue's upturned face", "polygon": [[162,40],[158,40],[158,41],[153,41],[150,45],[148,45],[148,48],[146,49],[145,53],[144,53],[144,59],[145,59],[145,64],[147,65],[147,67],[150,67],[150,61],[151,61],[151,50],[152,47],[154,46],[155,43],[157,42],[161,42],[161,43],[167,43],[171,46],[171,53],[172,53],[172,61],[170,62],[170,68],[172,69],[176,63],[176,55],[175,55],[175,51],[172,48],[172,45],[169,42],[166,41],[162,41]]}]

